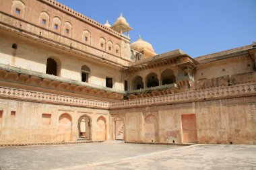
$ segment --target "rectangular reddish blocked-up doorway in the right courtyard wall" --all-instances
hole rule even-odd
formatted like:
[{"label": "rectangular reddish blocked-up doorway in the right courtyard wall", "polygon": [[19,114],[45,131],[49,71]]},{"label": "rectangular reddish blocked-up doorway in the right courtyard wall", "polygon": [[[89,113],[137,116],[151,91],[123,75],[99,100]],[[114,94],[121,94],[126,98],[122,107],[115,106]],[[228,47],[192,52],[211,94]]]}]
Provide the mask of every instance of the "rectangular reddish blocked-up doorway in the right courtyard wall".
[{"label": "rectangular reddish blocked-up doorway in the right courtyard wall", "polygon": [[197,120],[195,114],[181,115],[183,143],[197,143]]}]

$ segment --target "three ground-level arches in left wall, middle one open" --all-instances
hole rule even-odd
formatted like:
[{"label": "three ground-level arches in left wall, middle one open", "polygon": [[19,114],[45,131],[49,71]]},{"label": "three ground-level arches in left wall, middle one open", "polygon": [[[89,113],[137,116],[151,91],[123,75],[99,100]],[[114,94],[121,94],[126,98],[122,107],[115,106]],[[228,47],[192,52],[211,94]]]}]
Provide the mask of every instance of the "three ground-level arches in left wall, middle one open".
[{"label": "three ground-level arches in left wall, middle one open", "polygon": [[[57,140],[71,141],[72,140],[72,117],[70,114],[64,113],[59,116]],[[90,116],[83,115],[78,119],[78,136],[92,140],[92,119]],[[106,140],[106,118],[100,116],[96,120],[96,140]]]}]

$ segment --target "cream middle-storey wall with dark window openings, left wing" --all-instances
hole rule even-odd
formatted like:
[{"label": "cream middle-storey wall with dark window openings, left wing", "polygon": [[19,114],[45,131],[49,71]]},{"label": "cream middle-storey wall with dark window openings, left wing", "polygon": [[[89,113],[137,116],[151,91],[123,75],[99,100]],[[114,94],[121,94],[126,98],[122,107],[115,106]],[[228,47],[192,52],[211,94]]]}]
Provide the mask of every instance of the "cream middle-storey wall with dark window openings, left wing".
[{"label": "cream middle-storey wall with dark window openings, left wing", "polygon": [[[3,30],[0,39],[0,62],[3,65],[46,73],[47,58],[53,58],[57,62],[59,77],[81,81],[81,67],[86,65],[90,68],[88,83],[104,87],[106,77],[110,77],[113,78],[113,89],[123,90],[122,73],[117,68]],[[11,48],[13,43],[18,45],[15,55]]]}]

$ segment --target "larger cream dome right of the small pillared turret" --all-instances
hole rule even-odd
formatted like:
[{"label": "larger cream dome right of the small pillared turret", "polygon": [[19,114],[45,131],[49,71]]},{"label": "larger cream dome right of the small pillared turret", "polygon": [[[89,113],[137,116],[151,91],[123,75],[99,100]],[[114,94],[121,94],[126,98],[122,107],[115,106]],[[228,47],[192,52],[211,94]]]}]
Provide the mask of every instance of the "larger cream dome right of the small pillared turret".
[{"label": "larger cream dome right of the small pillared turret", "polygon": [[156,56],[156,52],[149,42],[142,40],[139,35],[139,39],[131,43],[131,50],[141,52],[144,57]]}]

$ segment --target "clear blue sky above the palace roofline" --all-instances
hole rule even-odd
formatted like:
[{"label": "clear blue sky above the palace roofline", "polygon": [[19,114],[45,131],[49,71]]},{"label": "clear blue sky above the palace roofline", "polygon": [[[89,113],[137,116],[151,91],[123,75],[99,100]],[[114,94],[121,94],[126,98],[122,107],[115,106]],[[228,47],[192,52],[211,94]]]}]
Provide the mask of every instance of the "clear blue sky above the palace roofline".
[{"label": "clear blue sky above the palace roofline", "polygon": [[192,57],[256,42],[256,0],[59,0],[80,13],[113,25],[123,13],[131,42],[152,44],[161,54],[181,49]]}]

